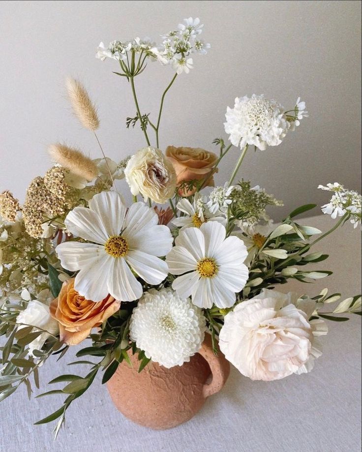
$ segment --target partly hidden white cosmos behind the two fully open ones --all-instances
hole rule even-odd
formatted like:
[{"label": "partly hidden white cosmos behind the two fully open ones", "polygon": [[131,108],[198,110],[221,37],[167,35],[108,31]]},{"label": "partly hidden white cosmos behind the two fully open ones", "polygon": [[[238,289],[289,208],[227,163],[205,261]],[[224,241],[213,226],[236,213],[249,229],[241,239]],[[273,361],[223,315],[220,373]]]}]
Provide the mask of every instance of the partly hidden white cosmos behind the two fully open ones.
[{"label": "partly hidden white cosmos behind the two fully open ones", "polygon": [[182,198],[181,201],[177,203],[176,207],[186,215],[174,218],[172,223],[175,226],[181,227],[181,230],[185,227],[200,227],[207,221],[218,221],[225,226],[226,219],[211,213],[207,208],[205,201],[206,197],[200,196],[198,193],[195,193],[193,204],[191,204],[188,199]]}]

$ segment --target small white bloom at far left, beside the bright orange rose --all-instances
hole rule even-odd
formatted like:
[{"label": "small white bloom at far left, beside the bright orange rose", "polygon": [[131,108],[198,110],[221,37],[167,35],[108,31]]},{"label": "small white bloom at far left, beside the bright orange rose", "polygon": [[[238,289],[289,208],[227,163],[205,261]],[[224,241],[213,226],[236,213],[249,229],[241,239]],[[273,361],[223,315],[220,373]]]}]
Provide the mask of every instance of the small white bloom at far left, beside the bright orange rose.
[{"label": "small white bloom at far left, beside the bright orange rose", "polygon": [[[25,291],[29,293],[28,291]],[[24,293],[24,291],[23,291]],[[22,293],[22,298],[25,296]],[[30,296],[29,296],[30,298]],[[49,311],[49,306],[41,303],[38,300],[30,300],[28,306],[24,311],[21,311],[16,319],[17,323],[21,323],[19,329],[25,328],[29,325],[34,326],[33,332],[45,330],[29,344],[29,355],[33,356],[34,350],[41,350],[45,341],[52,335],[58,335],[58,322],[52,319]],[[37,329],[38,328],[38,329]]]}]

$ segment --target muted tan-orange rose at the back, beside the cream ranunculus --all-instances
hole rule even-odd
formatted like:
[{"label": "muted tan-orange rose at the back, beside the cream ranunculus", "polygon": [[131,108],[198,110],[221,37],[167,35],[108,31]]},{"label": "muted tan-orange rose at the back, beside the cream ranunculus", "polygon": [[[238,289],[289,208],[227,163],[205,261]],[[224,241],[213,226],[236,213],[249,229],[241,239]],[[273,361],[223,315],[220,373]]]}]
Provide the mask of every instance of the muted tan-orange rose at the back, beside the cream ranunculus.
[{"label": "muted tan-orange rose at the back, beside the cream ranunculus", "polygon": [[[183,181],[203,180],[210,174],[210,178],[205,182],[204,186],[214,187],[213,167],[217,161],[217,156],[213,152],[205,151],[201,148],[168,146],[166,156],[174,165],[178,185]],[[189,191],[185,191],[185,189],[179,190],[180,196],[190,196],[195,192],[196,187]]]}]

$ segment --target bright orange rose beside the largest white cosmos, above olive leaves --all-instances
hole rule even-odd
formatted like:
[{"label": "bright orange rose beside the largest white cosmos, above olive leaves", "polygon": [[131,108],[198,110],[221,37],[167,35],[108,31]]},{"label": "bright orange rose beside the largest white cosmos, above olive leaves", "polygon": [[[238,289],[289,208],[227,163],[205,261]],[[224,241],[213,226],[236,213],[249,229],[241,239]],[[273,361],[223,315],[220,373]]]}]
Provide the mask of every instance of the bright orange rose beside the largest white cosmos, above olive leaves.
[{"label": "bright orange rose beside the largest white cosmos, above olive leaves", "polygon": [[108,295],[104,300],[86,300],[74,289],[74,278],[63,283],[58,298],[50,304],[50,314],[58,321],[60,340],[76,345],[120,309],[121,302]]}]

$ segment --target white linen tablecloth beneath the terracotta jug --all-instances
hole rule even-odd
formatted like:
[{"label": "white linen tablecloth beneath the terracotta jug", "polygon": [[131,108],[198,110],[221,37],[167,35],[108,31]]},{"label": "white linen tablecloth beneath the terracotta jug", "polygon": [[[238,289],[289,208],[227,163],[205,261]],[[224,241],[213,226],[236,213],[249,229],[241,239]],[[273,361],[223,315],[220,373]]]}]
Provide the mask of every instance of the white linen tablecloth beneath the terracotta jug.
[{"label": "white linen tablecloth beneath the terracotta jug", "polygon": [[[327,230],[327,216],[303,224]],[[328,286],[350,296],[361,291],[360,230],[347,224],[318,244],[330,254],[315,269],[335,273],[313,285],[298,282],[282,291],[311,295]],[[67,412],[65,428],[53,442],[52,425],[32,425],[61,405],[51,395],[28,400],[20,388],[0,404],[1,452],[357,452],[361,450],[361,318],[329,322],[322,338],[324,354],[314,370],[271,383],[252,382],[232,369],[223,390],[210,397],[189,422],[166,431],[152,431],[126,420],[113,406],[105,386],[96,380]],[[75,350],[40,370],[41,391],[63,373],[83,375],[82,366],[67,367]],[[140,401],[142,403],[142,401]]]}]

